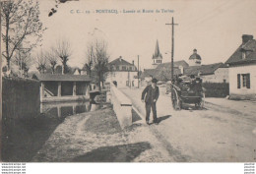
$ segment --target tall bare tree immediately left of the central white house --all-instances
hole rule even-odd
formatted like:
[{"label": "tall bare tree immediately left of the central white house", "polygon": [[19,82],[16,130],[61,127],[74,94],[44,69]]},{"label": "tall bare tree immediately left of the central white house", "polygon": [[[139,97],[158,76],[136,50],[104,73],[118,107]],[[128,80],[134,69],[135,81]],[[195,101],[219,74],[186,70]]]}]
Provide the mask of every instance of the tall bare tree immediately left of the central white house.
[{"label": "tall bare tree immediately left of the central white house", "polygon": [[98,89],[101,90],[100,83],[104,81],[104,74],[107,72],[107,64],[109,55],[107,53],[107,43],[104,40],[97,40],[93,44],[94,55],[93,56],[93,67],[96,72],[96,79],[98,84]]}]

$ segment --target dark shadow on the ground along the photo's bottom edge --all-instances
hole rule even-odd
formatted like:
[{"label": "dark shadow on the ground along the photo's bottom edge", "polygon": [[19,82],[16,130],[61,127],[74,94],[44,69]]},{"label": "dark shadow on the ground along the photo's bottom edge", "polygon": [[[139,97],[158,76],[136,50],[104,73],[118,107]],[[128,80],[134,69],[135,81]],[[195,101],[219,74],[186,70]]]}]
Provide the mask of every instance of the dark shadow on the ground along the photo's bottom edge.
[{"label": "dark shadow on the ground along the photo's bottom edge", "polygon": [[143,151],[150,149],[151,145],[147,142],[102,146],[84,155],[75,157],[73,162],[130,162]]}]

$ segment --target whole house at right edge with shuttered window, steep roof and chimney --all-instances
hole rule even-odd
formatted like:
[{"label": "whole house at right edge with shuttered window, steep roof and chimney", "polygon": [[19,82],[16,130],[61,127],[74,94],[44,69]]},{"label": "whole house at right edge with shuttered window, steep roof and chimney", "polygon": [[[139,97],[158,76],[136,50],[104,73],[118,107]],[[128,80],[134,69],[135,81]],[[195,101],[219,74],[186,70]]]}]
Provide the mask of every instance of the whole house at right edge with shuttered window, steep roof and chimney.
[{"label": "whole house at right edge with shuttered window, steep roof and chimney", "polygon": [[225,62],[229,71],[230,99],[256,99],[256,40],[242,35],[242,43]]}]

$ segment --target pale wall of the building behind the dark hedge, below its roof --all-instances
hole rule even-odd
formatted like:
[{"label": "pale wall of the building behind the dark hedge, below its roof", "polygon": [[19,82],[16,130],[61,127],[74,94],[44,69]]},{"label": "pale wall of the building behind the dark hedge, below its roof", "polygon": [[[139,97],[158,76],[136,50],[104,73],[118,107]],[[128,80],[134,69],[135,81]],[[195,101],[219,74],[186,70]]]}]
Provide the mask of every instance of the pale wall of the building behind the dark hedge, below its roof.
[{"label": "pale wall of the building behind the dark hedge, below its roof", "polygon": [[202,76],[204,83],[228,83],[228,68],[219,68],[214,75]]}]

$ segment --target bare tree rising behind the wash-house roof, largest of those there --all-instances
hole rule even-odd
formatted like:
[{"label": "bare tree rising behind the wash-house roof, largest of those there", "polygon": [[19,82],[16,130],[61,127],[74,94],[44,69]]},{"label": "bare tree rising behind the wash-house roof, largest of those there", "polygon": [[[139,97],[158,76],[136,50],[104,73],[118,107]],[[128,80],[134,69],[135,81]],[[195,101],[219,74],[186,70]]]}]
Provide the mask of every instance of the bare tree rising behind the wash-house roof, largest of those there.
[{"label": "bare tree rising behind the wash-house roof, largest of those there", "polygon": [[67,62],[72,55],[70,42],[67,39],[62,39],[58,40],[56,45],[54,51],[62,63],[62,74],[66,74],[68,72]]}]

